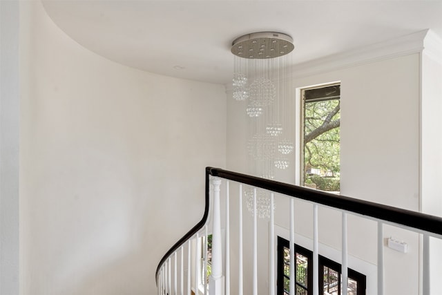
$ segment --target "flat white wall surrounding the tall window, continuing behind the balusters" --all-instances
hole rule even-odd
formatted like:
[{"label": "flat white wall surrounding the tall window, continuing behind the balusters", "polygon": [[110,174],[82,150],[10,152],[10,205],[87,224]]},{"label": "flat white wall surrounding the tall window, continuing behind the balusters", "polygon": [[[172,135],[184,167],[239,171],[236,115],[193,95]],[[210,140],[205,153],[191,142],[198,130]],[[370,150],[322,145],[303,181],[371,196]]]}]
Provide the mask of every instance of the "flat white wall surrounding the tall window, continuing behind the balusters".
[{"label": "flat white wall surrounding the tall window, continuing behind the balusters", "polygon": [[[420,66],[416,53],[295,79],[295,88],[341,82],[340,175],[344,196],[419,211]],[[230,112],[234,104],[233,99],[228,101],[228,169],[238,169],[238,163],[230,159],[247,158],[245,148],[238,146],[234,128],[242,124],[245,115]],[[288,171],[283,180],[294,182],[294,175],[294,170]],[[311,205],[297,202],[296,207],[296,231],[311,238]],[[277,199],[276,208],[276,223],[287,229],[287,203]],[[320,242],[340,249],[340,214],[329,209],[319,213]],[[261,220],[260,225],[260,235],[267,236],[266,222]],[[390,236],[407,242],[409,252],[401,254],[385,247],[385,294],[419,294],[419,237],[385,227],[385,238]],[[265,255],[268,246],[263,239],[260,247]],[[349,254],[376,264],[375,222],[349,217]],[[266,260],[260,265],[263,277],[259,289],[268,289],[267,265]]]}]

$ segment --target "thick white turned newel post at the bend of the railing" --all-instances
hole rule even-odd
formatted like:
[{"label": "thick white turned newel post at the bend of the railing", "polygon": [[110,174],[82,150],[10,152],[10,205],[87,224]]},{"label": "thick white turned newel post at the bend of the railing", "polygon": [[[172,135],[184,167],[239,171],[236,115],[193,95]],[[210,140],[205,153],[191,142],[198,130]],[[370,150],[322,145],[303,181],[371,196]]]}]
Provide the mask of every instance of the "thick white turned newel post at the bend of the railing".
[{"label": "thick white turned newel post at the bend of the railing", "polygon": [[209,294],[224,294],[224,276],[222,275],[222,238],[220,208],[220,178],[213,178],[213,230],[212,230],[212,273],[209,278]]}]

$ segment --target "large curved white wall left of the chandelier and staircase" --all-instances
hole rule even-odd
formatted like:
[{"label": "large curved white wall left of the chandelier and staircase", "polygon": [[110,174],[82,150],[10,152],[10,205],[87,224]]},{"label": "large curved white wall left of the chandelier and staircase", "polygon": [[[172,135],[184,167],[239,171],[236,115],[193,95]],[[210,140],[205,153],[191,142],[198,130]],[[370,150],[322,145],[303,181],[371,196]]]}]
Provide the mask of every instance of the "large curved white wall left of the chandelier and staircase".
[{"label": "large curved white wall left of the chandelier and staircase", "polygon": [[20,5],[20,293],[155,294],[225,164],[224,86],[115,64]]}]

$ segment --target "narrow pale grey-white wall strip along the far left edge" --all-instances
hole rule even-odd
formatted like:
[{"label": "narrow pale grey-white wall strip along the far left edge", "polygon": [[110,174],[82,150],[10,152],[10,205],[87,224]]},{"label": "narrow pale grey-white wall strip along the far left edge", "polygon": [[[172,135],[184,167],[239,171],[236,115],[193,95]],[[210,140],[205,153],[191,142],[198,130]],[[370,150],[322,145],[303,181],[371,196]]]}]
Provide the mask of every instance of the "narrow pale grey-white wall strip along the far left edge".
[{"label": "narrow pale grey-white wall strip along the far left edge", "polygon": [[0,294],[19,294],[19,3],[0,1]]}]

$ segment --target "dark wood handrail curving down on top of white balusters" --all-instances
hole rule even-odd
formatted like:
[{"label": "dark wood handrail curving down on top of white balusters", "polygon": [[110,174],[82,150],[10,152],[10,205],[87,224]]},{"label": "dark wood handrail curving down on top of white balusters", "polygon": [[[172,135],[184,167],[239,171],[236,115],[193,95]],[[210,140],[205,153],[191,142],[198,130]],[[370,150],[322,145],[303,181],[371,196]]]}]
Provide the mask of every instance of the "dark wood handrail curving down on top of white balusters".
[{"label": "dark wood handrail curving down on top of white balusters", "polygon": [[340,196],[333,193],[326,193],[325,191],[317,191],[316,189],[309,189],[306,187],[298,187],[293,184],[287,184],[283,182],[277,182],[274,180],[266,180],[263,178],[257,178],[255,176],[227,171],[224,169],[206,167],[206,207],[202,220],[198,222],[187,234],[185,234],[178,242],[167,251],[157,267],[155,273],[155,279],[157,280],[160,267],[166,261],[171,254],[179,249],[186,240],[195,235],[206,223],[207,216],[209,216],[209,175],[233,180],[243,184],[249,184],[253,187],[260,187],[261,189],[267,189],[276,193],[282,193],[286,196],[306,200],[308,202],[315,202],[323,204],[328,207],[349,211],[352,213],[368,216],[387,222],[393,222],[405,227],[411,227],[419,229],[434,236],[440,236],[442,238],[442,218],[438,216],[432,216],[425,213],[416,211],[410,211],[406,209],[400,209],[384,204],[378,204],[375,202],[369,202],[365,200],[359,200],[356,198],[349,198],[346,196]]}]

